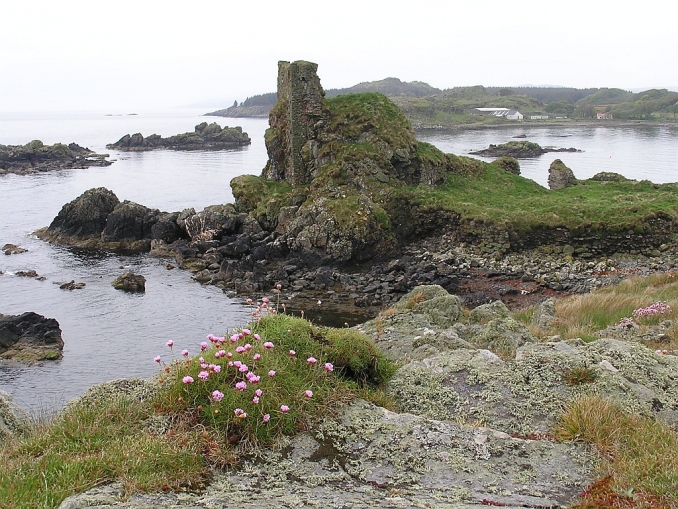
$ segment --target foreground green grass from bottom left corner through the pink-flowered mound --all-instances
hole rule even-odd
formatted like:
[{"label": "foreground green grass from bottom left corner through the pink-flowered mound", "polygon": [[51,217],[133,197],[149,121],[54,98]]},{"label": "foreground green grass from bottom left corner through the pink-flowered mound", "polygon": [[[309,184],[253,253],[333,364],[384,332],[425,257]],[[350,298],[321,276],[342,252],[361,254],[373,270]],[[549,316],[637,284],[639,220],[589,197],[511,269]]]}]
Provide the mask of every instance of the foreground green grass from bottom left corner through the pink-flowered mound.
[{"label": "foreground green grass from bottom left corner through the pink-flowered mound", "polygon": [[[198,489],[211,468],[233,465],[282,435],[308,429],[342,402],[355,397],[389,402],[380,384],[395,366],[366,336],[285,315],[265,316],[249,332],[193,358],[179,355],[160,373],[153,398],[88,399],[67,406],[50,422],[36,423],[25,436],[0,441],[0,509],[54,508],[71,494],[116,481],[126,493]],[[274,346],[265,348],[264,342]],[[252,348],[237,353],[236,347],[246,344]],[[222,348],[231,359],[215,357]],[[261,359],[254,360],[255,353]],[[199,357],[219,364],[221,371],[202,368]],[[309,363],[311,357],[318,362]],[[259,383],[236,390],[245,374],[227,362],[237,359],[261,377]],[[270,370],[275,376],[268,376]],[[210,372],[206,380],[200,371]],[[183,383],[187,375],[195,381]],[[255,404],[257,389],[262,392]],[[216,390],[223,393],[220,401],[213,396]],[[246,417],[236,415],[237,408]]]}]

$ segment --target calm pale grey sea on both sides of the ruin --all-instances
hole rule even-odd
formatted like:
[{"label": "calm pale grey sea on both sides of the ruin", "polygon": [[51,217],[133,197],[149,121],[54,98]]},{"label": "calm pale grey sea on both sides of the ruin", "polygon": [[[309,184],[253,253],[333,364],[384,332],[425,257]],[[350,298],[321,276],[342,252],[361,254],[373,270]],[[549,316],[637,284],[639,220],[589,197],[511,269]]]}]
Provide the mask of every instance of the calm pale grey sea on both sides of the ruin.
[{"label": "calm pale grey sea on both sides of the ruin", "polygon": [[[63,331],[64,358],[35,366],[0,362],[0,389],[26,408],[47,411],[62,407],[87,387],[121,377],[147,377],[157,371],[155,355],[169,359],[165,341],[175,351],[196,352],[209,333],[224,334],[248,317],[241,300],[203,287],[190,274],[167,270],[163,260],[147,256],[120,257],[84,253],[52,246],[32,237],[47,226],[61,207],[87,189],[107,187],[122,200],[177,211],[233,201],[230,180],[259,174],[266,163],[263,119],[202,117],[200,110],[139,112],[138,115],[0,114],[0,144],[76,142],[95,152],[110,153],[107,168],[67,170],[31,176],[0,176],[0,247],[6,243],[28,249],[21,255],[0,254],[0,313],[35,311],[56,318]],[[127,133],[162,136],[192,131],[200,122],[240,125],[252,145],[218,152],[154,151],[120,153],[105,148]],[[522,160],[523,176],[546,186],[548,166],[562,159],[578,178],[615,171],[654,182],[678,181],[678,128],[564,127],[427,132],[420,139],[445,152],[467,155],[490,143],[514,136],[542,146],[575,147],[581,153],[546,154]],[[146,277],[146,293],[114,290],[112,279],[125,268]],[[34,269],[46,281],[16,276]],[[86,283],[82,290],[60,290],[56,282]],[[258,296],[252,296],[254,298]]]}]

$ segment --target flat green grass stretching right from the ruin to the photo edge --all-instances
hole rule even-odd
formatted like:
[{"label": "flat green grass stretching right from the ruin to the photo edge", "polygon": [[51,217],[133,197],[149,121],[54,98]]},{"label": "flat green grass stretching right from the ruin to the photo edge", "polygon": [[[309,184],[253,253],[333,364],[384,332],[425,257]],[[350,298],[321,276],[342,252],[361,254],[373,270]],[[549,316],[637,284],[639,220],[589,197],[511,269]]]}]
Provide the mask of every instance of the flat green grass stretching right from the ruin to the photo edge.
[{"label": "flat green grass stretching right from the ruin to the photo edge", "polygon": [[452,173],[435,188],[419,186],[413,202],[422,209],[453,210],[462,218],[515,230],[564,227],[612,232],[641,228],[655,218],[678,215],[678,185],[594,182],[549,191],[494,165],[472,178]]}]

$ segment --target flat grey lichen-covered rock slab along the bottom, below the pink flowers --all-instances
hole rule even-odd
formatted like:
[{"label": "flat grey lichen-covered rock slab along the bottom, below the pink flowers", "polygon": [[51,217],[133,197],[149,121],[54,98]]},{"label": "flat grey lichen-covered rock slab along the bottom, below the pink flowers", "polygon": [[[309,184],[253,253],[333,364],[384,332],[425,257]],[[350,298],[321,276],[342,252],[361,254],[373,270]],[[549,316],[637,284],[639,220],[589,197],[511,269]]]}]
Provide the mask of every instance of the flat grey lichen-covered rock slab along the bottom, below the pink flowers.
[{"label": "flat grey lichen-covered rock slab along the bottom, below the pink flowers", "polygon": [[590,453],[574,444],[512,438],[360,400],[315,433],[280,445],[215,475],[202,493],[122,501],[119,486],[111,485],[70,497],[60,509],[559,507],[594,475]]}]

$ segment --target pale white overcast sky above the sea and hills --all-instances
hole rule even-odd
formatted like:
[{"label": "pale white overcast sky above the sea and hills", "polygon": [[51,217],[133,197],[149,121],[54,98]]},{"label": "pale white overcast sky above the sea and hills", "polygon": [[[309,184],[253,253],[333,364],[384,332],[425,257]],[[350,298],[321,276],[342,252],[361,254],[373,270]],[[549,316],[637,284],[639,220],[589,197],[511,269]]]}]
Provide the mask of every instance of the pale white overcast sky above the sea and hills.
[{"label": "pale white overcast sky above the sea and hills", "polygon": [[0,112],[227,107],[274,92],[278,60],[324,88],[676,87],[668,0],[6,0]]}]

